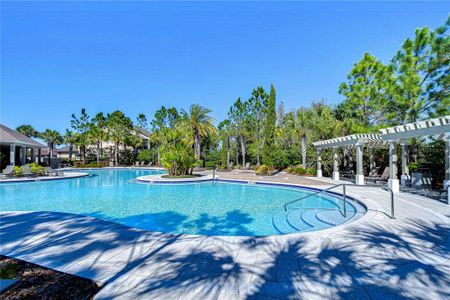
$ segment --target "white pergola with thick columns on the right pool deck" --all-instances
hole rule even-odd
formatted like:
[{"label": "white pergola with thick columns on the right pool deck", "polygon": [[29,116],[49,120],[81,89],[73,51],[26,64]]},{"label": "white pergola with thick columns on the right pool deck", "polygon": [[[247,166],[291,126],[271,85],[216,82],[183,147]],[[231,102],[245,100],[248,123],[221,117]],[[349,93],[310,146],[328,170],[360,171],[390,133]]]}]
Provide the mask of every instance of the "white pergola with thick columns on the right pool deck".
[{"label": "white pergola with thick columns on the right pool deck", "polygon": [[[445,186],[450,184],[450,116],[429,119],[421,122],[382,129],[379,134],[352,134],[334,139],[313,143],[317,149],[317,177],[322,177],[320,152],[323,149],[333,148],[333,179],[339,180],[339,164],[337,148],[356,148],[356,184],[364,184],[363,174],[363,147],[374,148],[383,145],[389,146],[389,187],[399,191],[397,178],[397,145],[402,147],[402,176],[408,173],[406,145],[412,138],[427,139],[434,137],[445,141]],[[373,155],[370,155],[370,167],[373,166]]]}]

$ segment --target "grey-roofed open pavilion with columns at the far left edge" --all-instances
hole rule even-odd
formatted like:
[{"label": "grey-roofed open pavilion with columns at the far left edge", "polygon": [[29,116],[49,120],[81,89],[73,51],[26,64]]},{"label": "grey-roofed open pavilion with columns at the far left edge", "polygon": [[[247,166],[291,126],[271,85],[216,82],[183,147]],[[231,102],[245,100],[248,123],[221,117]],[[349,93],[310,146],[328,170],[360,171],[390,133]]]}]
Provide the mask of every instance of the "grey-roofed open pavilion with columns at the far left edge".
[{"label": "grey-roofed open pavilion with columns at the far left edge", "polygon": [[0,124],[1,168],[41,162],[41,149],[46,146],[20,132]]}]

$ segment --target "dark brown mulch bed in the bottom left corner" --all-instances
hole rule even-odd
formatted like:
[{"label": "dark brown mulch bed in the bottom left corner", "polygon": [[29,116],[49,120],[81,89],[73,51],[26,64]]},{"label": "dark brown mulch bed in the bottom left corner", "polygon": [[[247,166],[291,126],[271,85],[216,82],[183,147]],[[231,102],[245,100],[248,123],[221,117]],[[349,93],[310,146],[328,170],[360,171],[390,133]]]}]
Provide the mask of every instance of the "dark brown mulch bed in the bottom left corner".
[{"label": "dark brown mulch bed in the bottom left corner", "polygon": [[99,287],[93,281],[0,255],[0,279],[19,282],[0,299],[92,299]]}]

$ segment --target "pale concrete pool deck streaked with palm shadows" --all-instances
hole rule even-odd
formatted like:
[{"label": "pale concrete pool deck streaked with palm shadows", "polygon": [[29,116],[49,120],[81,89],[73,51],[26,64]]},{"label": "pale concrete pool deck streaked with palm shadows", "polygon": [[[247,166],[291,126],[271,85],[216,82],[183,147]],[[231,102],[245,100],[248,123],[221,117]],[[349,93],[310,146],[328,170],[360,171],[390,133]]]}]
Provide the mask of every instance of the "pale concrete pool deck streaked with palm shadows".
[{"label": "pale concrete pool deck streaked with palm shadows", "polygon": [[[327,179],[282,181],[305,180],[330,185]],[[390,219],[388,192],[348,192],[367,206],[363,218],[261,238],[174,235],[79,215],[3,212],[0,254],[93,279],[102,286],[97,299],[448,299],[450,206],[400,193],[397,218]]]}]

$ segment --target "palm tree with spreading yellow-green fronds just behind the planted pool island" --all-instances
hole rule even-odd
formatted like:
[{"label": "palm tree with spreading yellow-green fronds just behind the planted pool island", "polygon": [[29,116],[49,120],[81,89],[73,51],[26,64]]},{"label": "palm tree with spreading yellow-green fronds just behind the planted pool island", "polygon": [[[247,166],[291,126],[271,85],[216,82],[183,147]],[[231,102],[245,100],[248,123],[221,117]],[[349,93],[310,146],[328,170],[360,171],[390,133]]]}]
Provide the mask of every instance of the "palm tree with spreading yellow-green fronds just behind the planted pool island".
[{"label": "palm tree with spreading yellow-green fronds just behind the planted pool island", "polygon": [[191,105],[189,114],[183,112],[187,117],[189,127],[194,133],[194,154],[197,159],[200,159],[201,154],[200,139],[217,131],[213,124],[214,119],[208,115],[210,112],[210,109],[198,104]]}]

